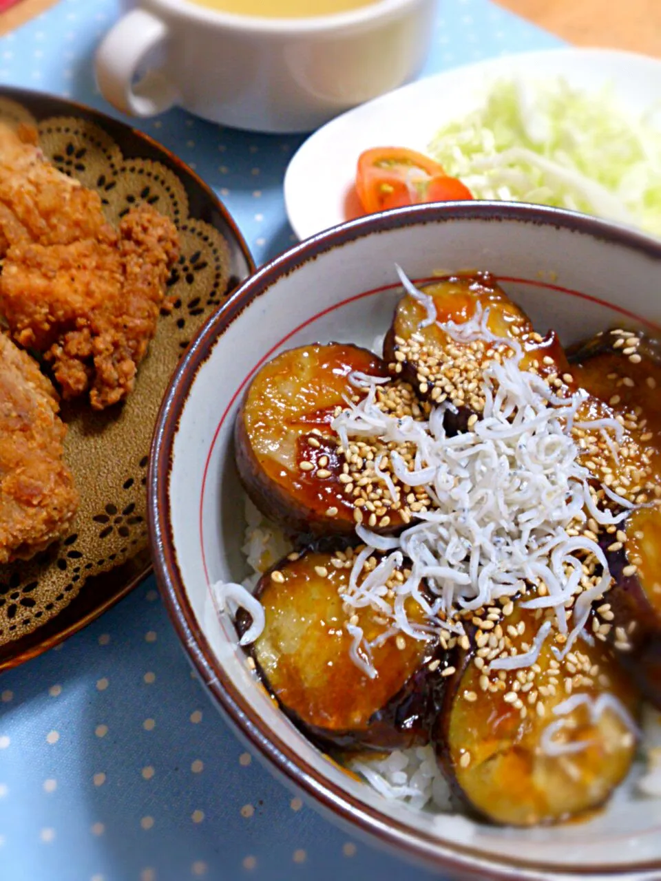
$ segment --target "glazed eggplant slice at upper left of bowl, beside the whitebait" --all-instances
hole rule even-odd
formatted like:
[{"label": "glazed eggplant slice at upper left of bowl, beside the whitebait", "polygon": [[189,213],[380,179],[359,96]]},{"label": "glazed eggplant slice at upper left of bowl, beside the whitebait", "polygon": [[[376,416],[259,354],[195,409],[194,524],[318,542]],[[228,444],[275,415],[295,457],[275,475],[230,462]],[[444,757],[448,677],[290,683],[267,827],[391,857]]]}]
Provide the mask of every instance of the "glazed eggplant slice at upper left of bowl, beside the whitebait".
[{"label": "glazed eggplant slice at upper left of bowl, beside the whitebait", "polygon": [[[347,394],[354,401],[367,394],[349,386],[354,372],[388,375],[381,359],[358,346],[306,345],[264,365],[244,396],[234,431],[241,482],[256,507],[290,533],[350,535],[355,528],[345,457],[331,428]],[[382,503],[373,528],[401,527],[387,490],[376,494]]]}]

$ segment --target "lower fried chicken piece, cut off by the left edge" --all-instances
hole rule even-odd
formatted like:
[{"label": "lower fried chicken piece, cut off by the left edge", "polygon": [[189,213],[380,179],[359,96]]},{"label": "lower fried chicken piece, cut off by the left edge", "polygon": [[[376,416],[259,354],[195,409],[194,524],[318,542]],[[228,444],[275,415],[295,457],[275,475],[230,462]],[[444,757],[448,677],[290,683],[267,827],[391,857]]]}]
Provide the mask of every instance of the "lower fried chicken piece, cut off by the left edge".
[{"label": "lower fried chicken piece, cut off by the left edge", "polygon": [[66,428],[56,390],[0,334],[0,564],[29,559],[63,537],[78,509],[63,463]]}]

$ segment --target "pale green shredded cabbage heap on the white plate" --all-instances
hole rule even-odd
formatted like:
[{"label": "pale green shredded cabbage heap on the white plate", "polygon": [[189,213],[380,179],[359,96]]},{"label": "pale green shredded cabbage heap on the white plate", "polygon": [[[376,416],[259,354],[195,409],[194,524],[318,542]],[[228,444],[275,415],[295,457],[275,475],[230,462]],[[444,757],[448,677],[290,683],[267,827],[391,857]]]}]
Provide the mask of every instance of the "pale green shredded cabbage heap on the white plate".
[{"label": "pale green shredded cabbage heap on the white plate", "polygon": [[610,89],[563,79],[500,80],[483,104],[428,146],[478,199],[596,214],[661,236],[661,130],[631,115]]}]

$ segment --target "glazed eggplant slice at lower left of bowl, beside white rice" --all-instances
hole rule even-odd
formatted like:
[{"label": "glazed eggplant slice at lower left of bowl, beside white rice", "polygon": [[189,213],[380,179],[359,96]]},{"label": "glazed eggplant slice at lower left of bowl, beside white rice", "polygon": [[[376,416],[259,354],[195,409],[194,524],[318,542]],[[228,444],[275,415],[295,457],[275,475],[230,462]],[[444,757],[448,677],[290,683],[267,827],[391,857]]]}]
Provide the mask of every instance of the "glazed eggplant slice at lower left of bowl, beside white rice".
[{"label": "glazed eggplant slice at lower left of bowl, beside white rice", "polygon": [[[341,594],[349,587],[353,551],[337,554],[308,550],[283,560],[258,583],[265,624],[250,647],[256,670],[294,724],[324,748],[425,744],[434,643],[390,635],[371,648],[370,677],[365,640],[386,633],[389,624],[370,607],[346,609]],[[410,609],[410,619],[417,613],[422,619],[417,603]],[[249,626],[246,617],[245,611],[237,616],[240,633]],[[357,646],[355,628],[364,634]]]}]

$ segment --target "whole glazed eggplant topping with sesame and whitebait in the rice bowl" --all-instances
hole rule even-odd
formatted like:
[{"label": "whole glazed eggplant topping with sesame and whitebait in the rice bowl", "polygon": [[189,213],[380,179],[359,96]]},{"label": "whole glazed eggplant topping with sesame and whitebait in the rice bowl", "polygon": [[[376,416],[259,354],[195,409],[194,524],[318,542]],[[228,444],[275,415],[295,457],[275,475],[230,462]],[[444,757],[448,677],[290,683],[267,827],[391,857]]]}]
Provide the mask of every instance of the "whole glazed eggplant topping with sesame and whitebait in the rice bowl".
[{"label": "whole glazed eggplant topping with sesame and whitebait in the rice bowl", "polygon": [[[486,272],[406,290],[383,359],[348,344],[282,352],[241,405],[241,480],[294,549],[257,585],[265,623],[250,659],[284,712],[336,757],[427,744],[480,818],[518,826],[589,818],[628,774],[641,696],[661,709],[661,344],[620,328],[565,352]],[[361,387],[355,374],[375,381]],[[559,443],[556,467],[545,450]],[[565,522],[562,506],[575,499]],[[538,514],[529,546],[521,523]],[[420,553],[401,536],[426,524],[431,531],[416,533],[428,542]],[[516,591],[499,594],[493,581],[479,607],[457,603],[475,594],[453,587],[432,626],[429,603],[446,589],[439,579],[478,590],[467,560],[474,573],[470,549],[486,540],[474,536],[496,534],[492,555],[477,560],[481,574],[494,559],[516,567],[521,546],[510,557],[501,549],[521,541],[527,560],[545,543],[560,546],[560,568],[552,571],[548,552],[533,574],[508,569]],[[394,548],[395,568],[379,581]],[[416,566],[423,575],[412,576]],[[546,602],[565,589],[560,606]],[[423,640],[400,628],[399,597]],[[514,655],[521,663],[509,663]]]}]

